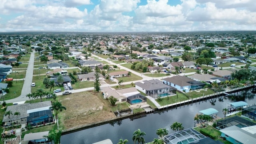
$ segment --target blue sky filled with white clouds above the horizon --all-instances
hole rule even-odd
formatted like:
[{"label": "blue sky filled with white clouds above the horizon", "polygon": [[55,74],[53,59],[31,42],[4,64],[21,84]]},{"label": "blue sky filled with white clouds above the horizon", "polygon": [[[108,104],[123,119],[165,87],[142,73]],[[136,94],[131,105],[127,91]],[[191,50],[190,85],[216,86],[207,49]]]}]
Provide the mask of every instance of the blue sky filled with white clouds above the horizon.
[{"label": "blue sky filled with white clouds above the horizon", "polygon": [[256,30],[254,0],[0,0],[0,32]]}]

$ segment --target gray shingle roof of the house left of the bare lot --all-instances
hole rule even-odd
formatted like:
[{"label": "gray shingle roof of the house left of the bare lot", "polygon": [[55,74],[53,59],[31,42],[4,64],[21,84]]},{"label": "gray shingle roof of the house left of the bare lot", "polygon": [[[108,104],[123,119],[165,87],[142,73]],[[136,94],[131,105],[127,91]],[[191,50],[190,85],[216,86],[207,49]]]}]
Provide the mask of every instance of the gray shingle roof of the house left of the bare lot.
[{"label": "gray shingle roof of the house left of the bare lot", "polygon": [[[12,115],[10,115],[10,118],[8,118],[8,116],[4,116],[2,122],[7,122],[9,120],[17,120],[20,118],[27,118],[29,116],[29,114],[27,114],[28,110],[32,110],[35,108],[43,108],[46,106],[52,106],[51,101],[36,102],[36,103],[32,103],[32,104],[25,103],[25,104],[17,104],[17,105],[13,105],[13,106],[7,106],[6,112],[10,110],[12,112]],[[20,112],[20,115],[14,116],[15,112]]]}]

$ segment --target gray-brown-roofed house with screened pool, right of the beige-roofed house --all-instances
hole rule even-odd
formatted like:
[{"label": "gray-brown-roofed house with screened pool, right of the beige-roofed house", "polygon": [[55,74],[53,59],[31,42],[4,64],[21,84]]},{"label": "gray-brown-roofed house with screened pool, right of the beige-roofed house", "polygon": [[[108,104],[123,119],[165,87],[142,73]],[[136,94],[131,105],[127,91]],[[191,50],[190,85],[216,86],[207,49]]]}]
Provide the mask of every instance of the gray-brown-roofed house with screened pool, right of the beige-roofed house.
[{"label": "gray-brown-roofed house with screened pool, right of the beige-roofed house", "polygon": [[160,80],[144,80],[142,82],[136,82],[135,88],[152,98],[176,94],[176,88],[163,84]]}]

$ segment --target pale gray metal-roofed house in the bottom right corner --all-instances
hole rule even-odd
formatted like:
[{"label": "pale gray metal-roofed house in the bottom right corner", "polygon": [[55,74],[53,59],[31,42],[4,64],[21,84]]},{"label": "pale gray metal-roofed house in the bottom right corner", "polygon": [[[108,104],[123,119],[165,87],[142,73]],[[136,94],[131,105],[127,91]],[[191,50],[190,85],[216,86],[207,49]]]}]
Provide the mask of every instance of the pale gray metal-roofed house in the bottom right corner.
[{"label": "pale gray metal-roofed house in the bottom right corner", "polygon": [[256,142],[256,126],[239,128],[230,126],[220,130],[221,136],[232,144],[254,144]]}]

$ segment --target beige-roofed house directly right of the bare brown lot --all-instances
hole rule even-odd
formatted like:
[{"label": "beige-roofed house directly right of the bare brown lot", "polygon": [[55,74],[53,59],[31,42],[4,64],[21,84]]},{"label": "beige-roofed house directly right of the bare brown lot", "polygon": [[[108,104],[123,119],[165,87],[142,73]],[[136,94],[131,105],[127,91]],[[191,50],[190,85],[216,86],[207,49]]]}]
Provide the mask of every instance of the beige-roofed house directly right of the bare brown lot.
[{"label": "beige-roofed house directly right of the bare brown lot", "polygon": [[138,92],[138,90],[135,87],[124,88],[119,90],[116,90],[111,87],[106,87],[102,89],[102,92],[104,94],[105,99],[109,98],[110,96],[113,96],[114,98],[116,98],[117,99],[116,103],[126,102],[127,97],[140,94],[140,92]]}]

